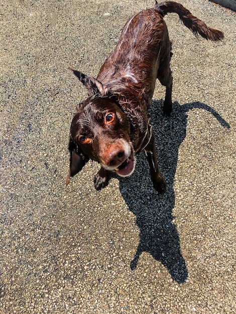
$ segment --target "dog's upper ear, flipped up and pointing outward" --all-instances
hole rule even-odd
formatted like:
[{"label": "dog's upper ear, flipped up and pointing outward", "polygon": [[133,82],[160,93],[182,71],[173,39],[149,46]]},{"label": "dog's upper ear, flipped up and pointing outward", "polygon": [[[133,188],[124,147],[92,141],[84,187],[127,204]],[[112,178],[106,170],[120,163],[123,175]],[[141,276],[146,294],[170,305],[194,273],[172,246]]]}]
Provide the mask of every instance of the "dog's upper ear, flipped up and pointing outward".
[{"label": "dog's upper ear, flipped up and pointing outward", "polygon": [[100,94],[101,96],[107,96],[111,94],[110,88],[106,85],[103,85],[101,82],[96,80],[94,77],[83,74],[77,70],[69,68],[73,71],[74,75],[83,83],[83,85],[87,88],[88,96],[93,96],[96,94]]}]

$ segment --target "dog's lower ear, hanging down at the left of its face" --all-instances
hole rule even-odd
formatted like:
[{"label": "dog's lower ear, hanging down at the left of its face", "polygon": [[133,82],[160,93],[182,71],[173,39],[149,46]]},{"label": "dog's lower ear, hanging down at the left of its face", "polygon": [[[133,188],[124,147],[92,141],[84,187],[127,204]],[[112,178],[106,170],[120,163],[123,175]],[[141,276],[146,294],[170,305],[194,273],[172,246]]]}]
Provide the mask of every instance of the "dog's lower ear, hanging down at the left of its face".
[{"label": "dog's lower ear, hanging down at the left of its face", "polygon": [[80,147],[73,140],[72,136],[70,136],[68,149],[70,151],[70,167],[66,185],[70,183],[70,178],[74,177],[89,161],[89,158],[82,153]]}]

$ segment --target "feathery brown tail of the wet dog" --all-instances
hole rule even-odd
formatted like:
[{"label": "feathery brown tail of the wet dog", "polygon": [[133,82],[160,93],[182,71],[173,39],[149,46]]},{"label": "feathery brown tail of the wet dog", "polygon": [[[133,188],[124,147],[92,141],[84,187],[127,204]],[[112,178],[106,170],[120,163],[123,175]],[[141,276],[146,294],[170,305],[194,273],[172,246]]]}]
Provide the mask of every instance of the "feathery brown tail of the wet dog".
[{"label": "feathery brown tail of the wet dog", "polygon": [[209,28],[204,22],[194,17],[181,4],[174,1],[167,1],[160,5],[156,2],[155,10],[159,11],[163,16],[167,13],[177,13],[181,22],[183,22],[195,36],[199,34],[201,37],[212,41],[218,41],[224,38],[222,32]]}]

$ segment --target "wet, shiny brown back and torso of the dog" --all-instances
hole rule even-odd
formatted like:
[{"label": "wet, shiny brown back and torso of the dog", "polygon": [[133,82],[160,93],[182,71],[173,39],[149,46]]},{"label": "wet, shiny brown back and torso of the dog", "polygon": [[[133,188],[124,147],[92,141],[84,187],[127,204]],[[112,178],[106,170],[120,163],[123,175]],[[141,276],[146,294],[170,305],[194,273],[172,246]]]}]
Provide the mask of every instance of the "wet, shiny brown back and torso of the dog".
[{"label": "wet, shiny brown back and torso of the dog", "polygon": [[[170,60],[170,42],[163,16],[143,10],[126,23],[115,50],[102,65],[97,80],[114,93],[130,93],[147,109],[155,88],[160,60]],[[127,95],[128,98],[128,95]]]}]

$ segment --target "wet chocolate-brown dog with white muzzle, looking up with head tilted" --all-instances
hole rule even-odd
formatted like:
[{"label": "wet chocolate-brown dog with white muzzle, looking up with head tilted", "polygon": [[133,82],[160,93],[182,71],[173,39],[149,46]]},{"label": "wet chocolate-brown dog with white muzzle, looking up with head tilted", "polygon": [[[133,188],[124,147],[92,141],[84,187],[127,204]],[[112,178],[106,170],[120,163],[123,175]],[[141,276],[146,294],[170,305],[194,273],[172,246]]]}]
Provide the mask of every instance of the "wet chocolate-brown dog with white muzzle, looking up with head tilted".
[{"label": "wet chocolate-brown dog with white muzzle, looking up with head tilted", "polygon": [[66,185],[83,166],[93,160],[101,168],[94,186],[107,186],[109,172],[121,177],[135,170],[136,153],[144,150],[153,186],[166,192],[158,162],[152,126],[147,115],[155,81],[166,87],[163,113],[172,110],[171,41],[164,16],[177,13],[195,36],[219,41],[223,33],[209,28],[181,4],[164,2],[137,13],[126,23],[120,41],[108,56],[97,78],[71,68],[87,88],[86,98],[72,119],[69,137],[70,166]]}]

